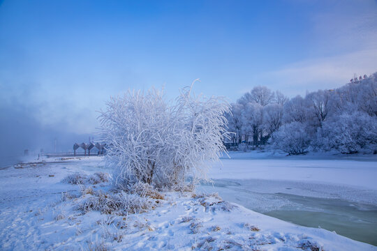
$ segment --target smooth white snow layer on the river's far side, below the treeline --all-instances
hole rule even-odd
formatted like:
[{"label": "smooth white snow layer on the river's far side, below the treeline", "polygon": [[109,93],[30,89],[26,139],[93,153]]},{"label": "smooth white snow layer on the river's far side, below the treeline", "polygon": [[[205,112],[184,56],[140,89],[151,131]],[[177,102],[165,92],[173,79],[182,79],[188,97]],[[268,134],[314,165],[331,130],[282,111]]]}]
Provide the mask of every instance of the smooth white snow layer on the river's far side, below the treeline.
[{"label": "smooth white snow layer on the river's far side, below the treeline", "polygon": [[[334,158],[324,155],[274,157],[271,153],[229,153],[209,173],[210,178],[265,179],[331,183],[377,190],[377,155]],[[327,158],[328,157],[328,158]]]}]

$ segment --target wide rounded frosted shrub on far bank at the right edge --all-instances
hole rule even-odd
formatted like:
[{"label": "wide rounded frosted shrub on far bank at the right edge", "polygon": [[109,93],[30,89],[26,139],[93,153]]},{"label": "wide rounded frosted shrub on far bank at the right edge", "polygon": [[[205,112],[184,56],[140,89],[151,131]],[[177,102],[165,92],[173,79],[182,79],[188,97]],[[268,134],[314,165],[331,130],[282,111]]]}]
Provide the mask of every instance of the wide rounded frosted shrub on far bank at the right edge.
[{"label": "wide rounded frosted shrub on far bank at the right edge", "polygon": [[377,117],[364,112],[343,113],[323,123],[317,132],[316,146],[328,151],[357,153],[377,150]]}]

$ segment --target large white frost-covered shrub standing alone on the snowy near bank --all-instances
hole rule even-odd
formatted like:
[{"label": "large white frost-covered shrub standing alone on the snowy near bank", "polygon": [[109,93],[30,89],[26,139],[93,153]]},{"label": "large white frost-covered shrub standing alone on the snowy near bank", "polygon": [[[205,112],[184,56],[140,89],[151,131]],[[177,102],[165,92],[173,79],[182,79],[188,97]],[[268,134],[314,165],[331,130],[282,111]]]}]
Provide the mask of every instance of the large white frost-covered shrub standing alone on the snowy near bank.
[{"label": "large white frost-covered shrub standing alone on the snowy near bank", "polygon": [[226,151],[225,112],[223,98],[195,96],[192,85],[181,90],[175,105],[156,89],[111,98],[100,121],[115,183],[179,189],[188,176],[193,183],[206,179],[210,162]]}]

